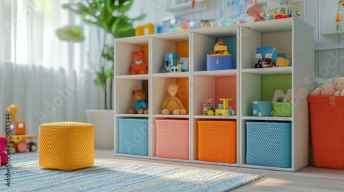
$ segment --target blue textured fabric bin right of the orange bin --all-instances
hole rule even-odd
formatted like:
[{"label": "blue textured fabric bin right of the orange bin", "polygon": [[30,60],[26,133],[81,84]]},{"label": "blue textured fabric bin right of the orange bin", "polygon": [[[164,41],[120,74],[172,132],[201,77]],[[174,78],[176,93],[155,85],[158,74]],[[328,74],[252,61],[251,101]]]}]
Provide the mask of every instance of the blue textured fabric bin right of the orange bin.
[{"label": "blue textured fabric bin right of the orange bin", "polygon": [[290,122],[246,122],[246,164],[291,167]]}]

